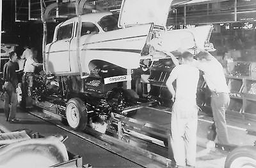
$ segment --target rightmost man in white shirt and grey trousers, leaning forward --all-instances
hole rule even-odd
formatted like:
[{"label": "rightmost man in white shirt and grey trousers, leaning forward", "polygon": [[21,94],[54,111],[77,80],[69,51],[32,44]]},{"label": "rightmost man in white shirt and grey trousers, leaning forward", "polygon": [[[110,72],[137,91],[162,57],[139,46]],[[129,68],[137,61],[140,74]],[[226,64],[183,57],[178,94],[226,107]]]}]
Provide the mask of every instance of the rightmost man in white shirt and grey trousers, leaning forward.
[{"label": "rightmost man in white shirt and grey trousers, leaning forward", "polygon": [[228,145],[225,111],[230,103],[229,88],[221,63],[205,50],[196,55],[195,66],[204,72],[204,79],[211,90],[211,108],[219,144]]}]

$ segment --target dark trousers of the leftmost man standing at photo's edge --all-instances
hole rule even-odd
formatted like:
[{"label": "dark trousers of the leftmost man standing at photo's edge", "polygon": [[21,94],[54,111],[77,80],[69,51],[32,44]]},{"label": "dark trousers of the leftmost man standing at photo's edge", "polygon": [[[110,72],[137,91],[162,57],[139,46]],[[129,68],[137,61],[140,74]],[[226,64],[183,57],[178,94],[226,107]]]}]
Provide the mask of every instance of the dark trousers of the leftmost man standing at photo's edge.
[{"label": "dark trousers of the leftmost man standing at photo's edge", "polygon": [[6,120],[12,120],[15,118],[17,111],[17,94],[12,83],[6,81],[4,83],[4,114]]}]

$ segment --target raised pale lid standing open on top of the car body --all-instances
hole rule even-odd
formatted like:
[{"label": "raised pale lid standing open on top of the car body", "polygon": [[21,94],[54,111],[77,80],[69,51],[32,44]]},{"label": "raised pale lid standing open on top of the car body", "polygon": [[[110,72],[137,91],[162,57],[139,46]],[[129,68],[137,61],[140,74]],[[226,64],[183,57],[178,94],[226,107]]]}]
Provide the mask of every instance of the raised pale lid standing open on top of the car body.
[{"label": "raised pale lid standing open on top of the car body", "polygon": [[166,26],[170,6],[189,0],[123,0],[118,27],[154,23]]}]

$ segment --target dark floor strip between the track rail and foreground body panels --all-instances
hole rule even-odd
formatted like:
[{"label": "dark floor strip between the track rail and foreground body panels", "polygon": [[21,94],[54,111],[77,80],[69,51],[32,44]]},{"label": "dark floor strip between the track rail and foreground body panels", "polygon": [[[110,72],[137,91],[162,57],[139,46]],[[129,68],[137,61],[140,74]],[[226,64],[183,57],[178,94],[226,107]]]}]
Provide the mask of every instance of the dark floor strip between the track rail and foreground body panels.
[{"label": "dark floor strip between the track rail and foreground body panels", "polygon": [[90,164],[93,165],[93,167],[141,167],[141,165],[100,148],[93,143],[88,143],[84,141],[84,139],[70,134],[70,132],[60,129],[56,127],[56,125],[52,125],[52,123],[31,115],[26,111],[18,110],[17,118],[20,119],[20,122],[6,122],[4,113],[1,111],[0,129],[4,130],[4,132],[28,129],[32,132],[39,132],[45,137],[56,134],[68,136],[67,140],[64,142],[67,150],[75,155],[82,156],[83,165]]}]

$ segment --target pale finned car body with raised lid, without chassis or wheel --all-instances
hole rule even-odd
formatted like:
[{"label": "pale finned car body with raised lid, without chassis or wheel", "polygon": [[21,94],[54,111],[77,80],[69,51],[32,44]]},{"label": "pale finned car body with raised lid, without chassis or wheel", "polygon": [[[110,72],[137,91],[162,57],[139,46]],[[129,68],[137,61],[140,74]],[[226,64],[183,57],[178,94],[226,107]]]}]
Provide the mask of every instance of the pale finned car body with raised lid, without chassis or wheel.
[{"label": "pale finned car body with raised lid, without chassis or wheel", "polygon": [[52,43],[45,50],[46,71],[58,75],[79,71],[91,74],[95,67],[111,64],[137,69],[141,60],[159,59],[159,55],[150,50],[156,51],[159,42],[170,52],[194,46],[204,48],[212,25],[166,31],[171,3],[172,0],[123,1],[119,18],[108,12],[90,13],[59,24]]}]

